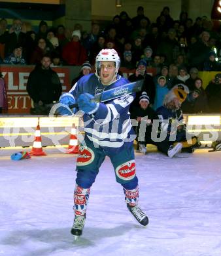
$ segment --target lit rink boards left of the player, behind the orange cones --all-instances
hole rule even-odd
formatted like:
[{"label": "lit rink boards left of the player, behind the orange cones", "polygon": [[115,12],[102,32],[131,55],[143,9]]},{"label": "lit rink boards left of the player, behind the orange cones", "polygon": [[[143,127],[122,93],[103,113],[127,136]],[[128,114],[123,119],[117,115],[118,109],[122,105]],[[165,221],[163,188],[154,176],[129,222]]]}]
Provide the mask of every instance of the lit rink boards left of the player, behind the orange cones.
[{"label": "lit rink boards left of the player, behind the orange cones", "polygon": [[2,116],[0,117],[0,147],[32,146],[39,122],[42,146],[68,145],[73,124],[82,126],[79,116]]}]

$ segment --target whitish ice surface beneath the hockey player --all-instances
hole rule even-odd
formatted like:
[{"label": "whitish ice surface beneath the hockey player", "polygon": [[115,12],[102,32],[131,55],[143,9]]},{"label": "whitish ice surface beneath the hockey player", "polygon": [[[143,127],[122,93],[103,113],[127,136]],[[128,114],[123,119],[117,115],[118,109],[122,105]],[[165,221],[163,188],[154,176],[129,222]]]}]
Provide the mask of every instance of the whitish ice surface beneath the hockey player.
[{"label": "whitish ice surface beneath the hockey player", "polygon": [[75,243],[76,158],[46,149],[48,156],[11,161],[14,152],[0,151],[0,256],[221,255],[221,152],[136,154],[147,227],[127,211],[106,158]]}]

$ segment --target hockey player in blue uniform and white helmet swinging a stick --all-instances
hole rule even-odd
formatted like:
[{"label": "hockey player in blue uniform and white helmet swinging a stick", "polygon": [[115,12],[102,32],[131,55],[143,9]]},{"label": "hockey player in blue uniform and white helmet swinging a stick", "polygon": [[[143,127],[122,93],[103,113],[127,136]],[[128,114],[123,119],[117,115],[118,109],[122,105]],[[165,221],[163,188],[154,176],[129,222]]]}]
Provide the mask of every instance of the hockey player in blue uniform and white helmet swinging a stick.
[{"label": "hockey player in blue uniform and white helmet swinging a stick", "polygon": [[[109,156],[116,181],[123,187],[127,209],[140,224],[148,224],[148,217],[138,205],[133,152],[135,135],[128,112],[135,96],[126,95],[105,103],[93,102],[97,93],[128,83],[118,75],[119,67],[120,58],[114,49],[101,50],[95,60],[95,74],[84,75],[59,99],[66,105],[77,102],[78,109],[84,112],[85,138],[76,160],[75,220],[71,229],[75,238],[82,234],[90,188],[105,156]],[[66,114],[65,109],[61,109],[60,114]]]}]

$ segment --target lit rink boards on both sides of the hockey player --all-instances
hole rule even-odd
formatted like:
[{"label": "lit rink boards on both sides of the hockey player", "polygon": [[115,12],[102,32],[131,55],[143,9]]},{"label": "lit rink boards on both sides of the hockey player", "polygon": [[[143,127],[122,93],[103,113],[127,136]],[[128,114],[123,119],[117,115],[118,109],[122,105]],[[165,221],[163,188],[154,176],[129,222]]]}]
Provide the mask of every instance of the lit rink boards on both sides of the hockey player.
[{"label": "lit rink boards on both sides of the hockey player", "polygon": [[[184,115],[188,132],[199,137],[202,144],[209,145],[221,140],[220,114]],[[73,124],[83,133],[80,116],[1,116],[0,147],[32,146],[37,123],[41,128],[42,146],[68,145]],[[81,129],[80,129],[81,128]]]}]

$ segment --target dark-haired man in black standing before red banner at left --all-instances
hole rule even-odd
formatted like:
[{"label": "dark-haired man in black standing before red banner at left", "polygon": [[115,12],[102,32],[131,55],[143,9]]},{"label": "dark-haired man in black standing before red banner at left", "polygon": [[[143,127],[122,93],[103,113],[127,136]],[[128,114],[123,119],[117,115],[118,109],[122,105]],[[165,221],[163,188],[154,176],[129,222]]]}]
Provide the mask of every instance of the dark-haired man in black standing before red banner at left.
[{"label": "dark-haired man in black standing before red banner at left", "polygon": [[50,108],[61,96],[61,82],[58,74],[50,68],[50,55],[42,56],[27,79],[27,93],[33,100],[34,110],[31,114],[48,114]]}]

